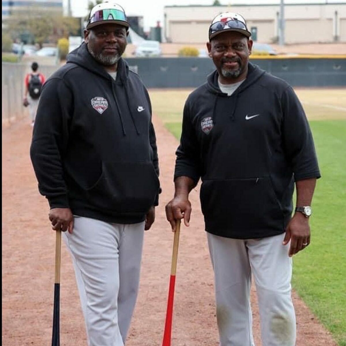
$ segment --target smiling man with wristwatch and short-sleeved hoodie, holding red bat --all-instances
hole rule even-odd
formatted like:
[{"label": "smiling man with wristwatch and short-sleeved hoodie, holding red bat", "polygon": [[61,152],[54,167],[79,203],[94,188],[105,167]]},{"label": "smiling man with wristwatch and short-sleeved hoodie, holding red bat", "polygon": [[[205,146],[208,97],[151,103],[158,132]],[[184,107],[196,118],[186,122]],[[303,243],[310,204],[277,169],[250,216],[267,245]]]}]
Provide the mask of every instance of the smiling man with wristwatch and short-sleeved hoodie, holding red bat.
[{"label": "smiling man with wristwatch and short-sleeved hoodie, holding red bat", "polygon": [[188,195],[201,178],[220,346],[254,345],[252,275],[263,346],[293,346],[291,257],[310,243],[310,204],[320,173],[297,96],[285,81],[249,63],[250,35],[236,13],[221,13],[210,25],[207,47],[216,71],[186,100],[175,196],[166,214],[173,231],[177,219],[189,226]]}]

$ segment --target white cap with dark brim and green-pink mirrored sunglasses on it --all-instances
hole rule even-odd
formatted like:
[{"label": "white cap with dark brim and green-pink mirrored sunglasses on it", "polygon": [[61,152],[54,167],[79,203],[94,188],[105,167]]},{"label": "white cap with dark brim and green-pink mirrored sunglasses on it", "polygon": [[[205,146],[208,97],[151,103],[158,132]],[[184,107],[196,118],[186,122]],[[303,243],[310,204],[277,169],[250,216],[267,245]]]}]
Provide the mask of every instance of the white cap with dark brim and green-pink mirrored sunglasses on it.
[{"label": "white cap with dark brim and green-pink mirrored sunglasses on it", "polygon": [[94,6],[90,11],[86,29],[89,30],[101,24],[119,24],[128,28],[130,24],[127,22],[124,9],[114,2],[102,2]]}]

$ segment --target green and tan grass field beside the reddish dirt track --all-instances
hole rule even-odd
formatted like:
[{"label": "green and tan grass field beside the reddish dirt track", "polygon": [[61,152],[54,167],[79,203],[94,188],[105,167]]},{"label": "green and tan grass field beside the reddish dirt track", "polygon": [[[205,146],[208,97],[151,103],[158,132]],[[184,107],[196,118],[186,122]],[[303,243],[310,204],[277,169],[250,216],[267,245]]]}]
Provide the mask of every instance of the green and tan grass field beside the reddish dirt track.
[{"label": "green and tan grass field beside the reddish dirt track", "polygon": [[[191,90],[150,90],[153,111],[180,138]],[[296,90],[315,139],[322,178],[313,197],[311,245],[293,259],[293,288],[346,346],[346,89]]]}]

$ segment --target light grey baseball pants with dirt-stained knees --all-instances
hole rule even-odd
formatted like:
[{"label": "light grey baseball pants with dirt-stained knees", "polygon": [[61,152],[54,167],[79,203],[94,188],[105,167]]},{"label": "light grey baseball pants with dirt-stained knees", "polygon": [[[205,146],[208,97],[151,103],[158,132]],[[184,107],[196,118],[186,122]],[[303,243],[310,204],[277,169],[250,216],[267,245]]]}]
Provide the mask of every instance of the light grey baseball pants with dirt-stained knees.
[{"label": "light grey baseball pants with dirt-stained knees", "polygon": [[292,258],[284,234],[231,239],[207,233],[215,275],[220,346],[254,346],[250,307],[251,275],[256,284],[263,346],[294,346],[291,299]]}]

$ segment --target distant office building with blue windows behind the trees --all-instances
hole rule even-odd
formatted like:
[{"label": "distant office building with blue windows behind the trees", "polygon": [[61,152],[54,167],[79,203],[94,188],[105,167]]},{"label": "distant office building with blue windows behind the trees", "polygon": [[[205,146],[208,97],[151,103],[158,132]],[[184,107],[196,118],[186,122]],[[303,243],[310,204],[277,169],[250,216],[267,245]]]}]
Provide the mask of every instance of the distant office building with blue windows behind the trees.
[{"label": "distant office building with blue windows behind the trees", "polygon": [[2,21],[9,18],[16,12],[25,12],[28,9],[37,8],[39,10],[54,11],[60,15],[63,14],[62,0],[21,0],[4,1],[2,0]]}]

